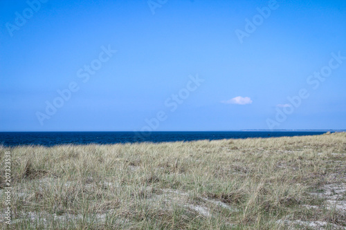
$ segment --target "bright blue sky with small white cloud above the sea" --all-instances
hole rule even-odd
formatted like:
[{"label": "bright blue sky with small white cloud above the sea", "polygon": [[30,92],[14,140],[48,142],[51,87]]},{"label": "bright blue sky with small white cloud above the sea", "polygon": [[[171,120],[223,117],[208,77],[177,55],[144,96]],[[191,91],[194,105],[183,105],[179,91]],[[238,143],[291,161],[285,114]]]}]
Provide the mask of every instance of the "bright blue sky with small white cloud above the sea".
[{"label": "bright blue sky with small white cloud above the sea", "polygon": [[0,24],[0,131],[346,128],[344,0],[3,0]]}]

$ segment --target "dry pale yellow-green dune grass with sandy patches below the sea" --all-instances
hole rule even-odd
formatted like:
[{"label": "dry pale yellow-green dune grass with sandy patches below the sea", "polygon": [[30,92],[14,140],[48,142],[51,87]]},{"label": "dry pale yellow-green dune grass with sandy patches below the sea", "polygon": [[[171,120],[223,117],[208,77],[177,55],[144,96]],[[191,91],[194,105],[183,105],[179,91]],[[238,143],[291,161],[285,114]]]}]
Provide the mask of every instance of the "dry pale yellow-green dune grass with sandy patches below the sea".
[{"label": "dry pale yellow-green dune grass with sandy patches below the sea", "polygon": [[13,229],[346,229],[346,133],[6,151]]}]

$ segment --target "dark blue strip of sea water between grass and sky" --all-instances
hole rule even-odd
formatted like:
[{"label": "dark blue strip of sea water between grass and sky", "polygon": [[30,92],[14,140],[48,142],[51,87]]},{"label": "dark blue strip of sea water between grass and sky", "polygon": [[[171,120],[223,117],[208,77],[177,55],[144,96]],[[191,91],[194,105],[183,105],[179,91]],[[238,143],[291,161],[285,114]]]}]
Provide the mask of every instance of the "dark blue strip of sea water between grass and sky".
[{"label": "dark blue strip of sea water between grass and sky", "polygon": [[219,132],[0,132],[3,146],[57,144],[116,144],[134,142],[176,142],[230,138],[321,135],[326,131],[219,131]]}]

